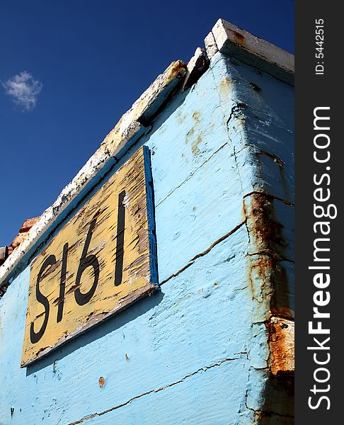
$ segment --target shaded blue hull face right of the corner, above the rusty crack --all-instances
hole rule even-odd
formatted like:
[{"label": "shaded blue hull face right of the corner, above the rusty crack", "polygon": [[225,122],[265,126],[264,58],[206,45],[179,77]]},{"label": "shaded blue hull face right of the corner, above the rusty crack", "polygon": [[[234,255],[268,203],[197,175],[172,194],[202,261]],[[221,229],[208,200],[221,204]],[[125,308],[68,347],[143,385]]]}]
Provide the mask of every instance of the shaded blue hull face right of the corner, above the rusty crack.
[{"label": "shaded blue hull face right of the corner, above the rusty crack", "polygon": [[[294,200],[294,90],[218,53],[212,71],[243,191]],[[283,166],[276,162],[281,159]]]}]

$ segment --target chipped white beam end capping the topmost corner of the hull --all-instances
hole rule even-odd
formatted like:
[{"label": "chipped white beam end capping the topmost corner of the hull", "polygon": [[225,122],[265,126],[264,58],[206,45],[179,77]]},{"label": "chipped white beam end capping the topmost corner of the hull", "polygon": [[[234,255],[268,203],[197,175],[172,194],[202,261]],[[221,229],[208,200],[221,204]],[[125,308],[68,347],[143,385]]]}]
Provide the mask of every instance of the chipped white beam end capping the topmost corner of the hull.
[{"label": "chipped white beam end capping the topmost corner of the hull", "polygon": [[[223,19],[214,25],[212,34],[219,52],[294,85],[294,55],[291,53]],[[210,40],[208,35],[205,40],[208,55],[216,52]]]}]

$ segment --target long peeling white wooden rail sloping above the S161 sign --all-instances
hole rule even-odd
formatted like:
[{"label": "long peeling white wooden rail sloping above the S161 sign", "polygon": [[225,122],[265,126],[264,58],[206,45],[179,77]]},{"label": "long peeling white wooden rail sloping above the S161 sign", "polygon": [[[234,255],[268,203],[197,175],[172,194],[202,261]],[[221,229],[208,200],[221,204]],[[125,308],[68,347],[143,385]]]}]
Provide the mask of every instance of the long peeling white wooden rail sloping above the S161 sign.
[{"label": "long peeling white wooden rail sloping above the S161 sign", "polygon": [[[149,132],[149,120],[164,105],[173,89],[182,81],[186,65],[177,60],[160,74],[149,88],[134,102],[132,107],[122,115],[113,130],[105,137],[101,146],[82,167],[74,179],[40,216],[40,220],[25,234],[20,249],[11,254],[6,263],[0,266],[0,286],[7,285],[18,268],[28,265],[34,255],[35,244],[45,242],[46,234],[52,232],[64,214],[74,208],[76,199],[86,195],[89,186],[101,181],[110,166],[115,164],[134,145],[139,137]],[[144,124],[143,124],[144,123]]]}]

